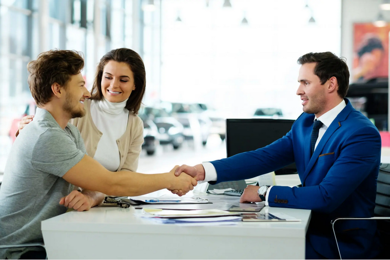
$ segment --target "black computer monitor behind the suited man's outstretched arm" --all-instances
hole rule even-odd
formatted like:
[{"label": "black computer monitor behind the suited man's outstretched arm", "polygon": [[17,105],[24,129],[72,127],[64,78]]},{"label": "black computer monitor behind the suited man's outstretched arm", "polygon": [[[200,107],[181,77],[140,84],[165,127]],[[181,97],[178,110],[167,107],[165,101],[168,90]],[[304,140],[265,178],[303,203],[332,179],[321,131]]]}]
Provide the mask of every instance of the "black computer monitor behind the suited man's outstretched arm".
[{"label": "black computer monitor behind the suited man's outstretched arm", "polygon": [[[227,119],[227,157],[262,148],[285,136],[295,120],[285,119]],[[276,170],[276,175],[297,173],[295,163]]]}]

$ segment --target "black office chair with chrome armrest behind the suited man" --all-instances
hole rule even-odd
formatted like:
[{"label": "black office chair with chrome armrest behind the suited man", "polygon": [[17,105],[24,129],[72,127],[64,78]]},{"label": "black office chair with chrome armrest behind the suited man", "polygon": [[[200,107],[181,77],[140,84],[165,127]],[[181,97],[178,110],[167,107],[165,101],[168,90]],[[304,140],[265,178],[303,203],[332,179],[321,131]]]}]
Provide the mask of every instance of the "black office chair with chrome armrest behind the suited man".
[{"label": "black office chair with chrome armrest behind the suited man", "polygon": [[[380,234],[382,245],[390,244],[390,164],[381,164],[376,186],[375,209],[372,218],[337,218],[331,221],[334,239],[336,240],[337,250],[341,258],[340,248],[337,243],[336,233],[334,232],[334,223],[338,220],[382,220],[378,221],[377,230]],[[390,254],[383,248],[378,259],[390,259]]]}]

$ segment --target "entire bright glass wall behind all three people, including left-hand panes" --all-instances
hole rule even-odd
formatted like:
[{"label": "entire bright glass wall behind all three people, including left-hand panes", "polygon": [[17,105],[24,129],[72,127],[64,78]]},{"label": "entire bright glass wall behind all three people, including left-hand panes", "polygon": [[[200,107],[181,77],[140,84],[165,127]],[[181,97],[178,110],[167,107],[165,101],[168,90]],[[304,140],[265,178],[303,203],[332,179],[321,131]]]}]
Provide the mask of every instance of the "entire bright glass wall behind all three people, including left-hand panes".
[{"label": "entire bright glass wall behind all three people, including left-hand panes", "polygon": [[340,54],[341,0],[224,2],[0,0],[0,172],[21,116],[31,113],[27,63],[54,48],[84,54],[89,88],[107,51],[134,49],[146,67],[146,105],[205,103],[225,117],[279,108],[296,118],[296,60]]}]

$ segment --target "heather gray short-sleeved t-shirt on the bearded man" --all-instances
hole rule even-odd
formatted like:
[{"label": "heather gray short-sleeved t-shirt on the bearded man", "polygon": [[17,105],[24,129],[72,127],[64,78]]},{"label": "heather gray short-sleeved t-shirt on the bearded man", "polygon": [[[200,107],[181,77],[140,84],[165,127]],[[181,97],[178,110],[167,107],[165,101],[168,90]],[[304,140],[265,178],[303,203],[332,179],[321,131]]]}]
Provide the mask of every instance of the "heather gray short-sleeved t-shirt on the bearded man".
[{"label": "heather gray short-sleeved t-shirt on the bearded man", "polygon": [[[62,129],[46,110],[37,108],[12,145],[0,187],[0,244],[43,242],[40,222],[66,212],[59,200],[73,185],[61,177],[86,154],[78,129]],[[0,259],[19,259],[39,248],[0,249]]]}]

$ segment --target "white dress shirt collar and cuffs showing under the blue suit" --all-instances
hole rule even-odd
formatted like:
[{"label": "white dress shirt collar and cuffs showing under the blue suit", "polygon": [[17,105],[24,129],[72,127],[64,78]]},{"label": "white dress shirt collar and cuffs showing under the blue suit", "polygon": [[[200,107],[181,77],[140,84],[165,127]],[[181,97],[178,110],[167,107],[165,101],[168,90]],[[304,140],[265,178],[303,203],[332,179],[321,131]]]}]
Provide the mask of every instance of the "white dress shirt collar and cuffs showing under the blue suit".
[{"label": "white dress shirt collar and cuffs showing under the blue suit", "polygon": [[[346,105],[347,104],[345,103],[345,100],[343,100],[340,102],[340,104],[333,107],[331,110],[329,110],[328,112],[326,112],[325,114],[323,114],[319,118],[314,117],[314,120],[320,120],[323,123],[323,125],[319,129],[318,139],[315,142],[314,150],[315,150],[315,148],[317,148],[319,141],[324,136],[325,131],[328,129],[328,127],[331,125],[331,123],[337,117],[337,115],[344,109],[344,107],[346,107]],[[205,177],[204,177],[204,180],[199,181],[199,183],[208,182],[208,181],[216,181],[217,180],[217,173],[216,173],[214,165],[211,162],[203,162],[202,165],[203,165],[203,168],[205,170]],[[265,200],[266,200],[265,205],[266,206],[268,206],[268,196],[270,194],[272,187],[273,186],[269,187],[267,190],[267,193],[266,193],[266,197],[265,197]]]}]

